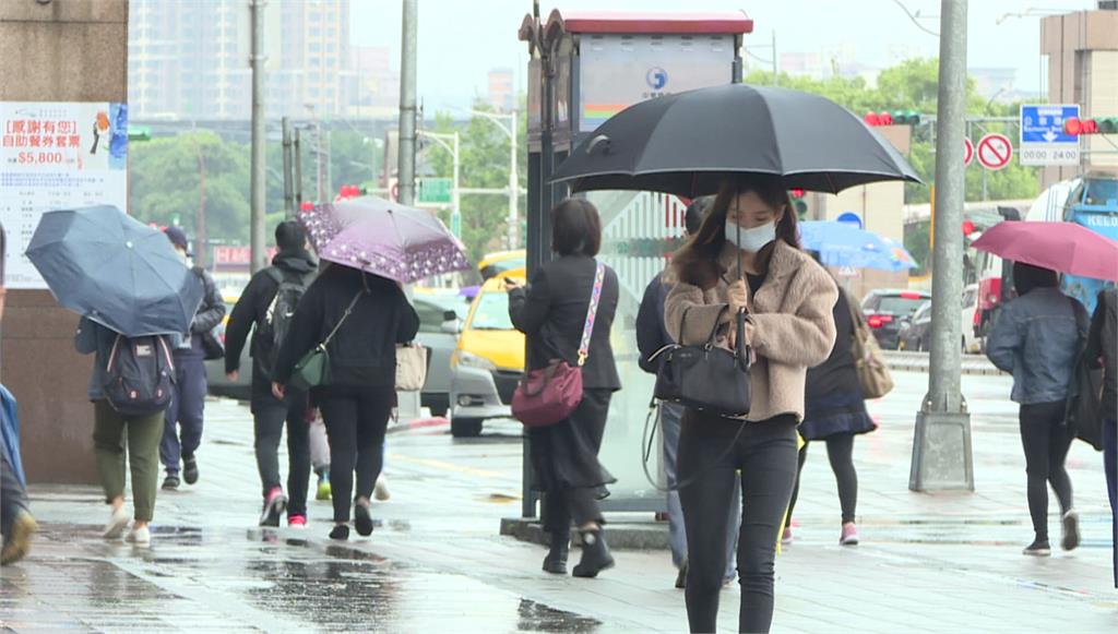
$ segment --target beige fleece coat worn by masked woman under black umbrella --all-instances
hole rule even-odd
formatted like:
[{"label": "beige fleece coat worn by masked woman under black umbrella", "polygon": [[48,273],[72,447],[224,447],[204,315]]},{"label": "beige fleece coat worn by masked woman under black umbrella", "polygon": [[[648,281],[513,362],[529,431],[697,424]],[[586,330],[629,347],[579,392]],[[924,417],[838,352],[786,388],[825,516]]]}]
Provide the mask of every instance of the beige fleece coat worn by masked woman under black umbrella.
[{"label": "beige fleece coat worn by masked woman under black umbrella", "polygon": [[[729,283],[738,278],[737,247],[727,243],[719,256],[724,272],[718,284],[703,291],[678,282],[664,303],[667,333],[684,346],[701,344],[719,321],[719,341],[732,319]],[[831,354],[835,342],[833,309],[839,288],[832,277],[802,250],[777,240],[768,275],[756,295],[747,284],[749,315],[754,322],[750,341],[757,354],[752,367],[752,407],[748,420],[768,420],[781,414],[804,418],[804,382],[807,369]],[[719,313],[721,312],[721,316]],[[683,315],[686,329],[681,332]]]}]

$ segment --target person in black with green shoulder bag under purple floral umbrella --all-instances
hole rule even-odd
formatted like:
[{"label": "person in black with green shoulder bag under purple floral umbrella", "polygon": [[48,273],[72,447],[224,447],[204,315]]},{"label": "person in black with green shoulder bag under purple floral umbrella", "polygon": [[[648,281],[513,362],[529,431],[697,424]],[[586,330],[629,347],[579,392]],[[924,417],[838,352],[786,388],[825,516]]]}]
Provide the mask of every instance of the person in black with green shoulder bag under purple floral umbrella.
[{"label": "person in black with green shoulder bag under purple floral umbrella", "polygon": [[[419,331],[419,315],[391,280],[329,265],[306,290],[272,373],[276,398],[295,365],[333,332],[326,346],[331,380],[311,390],[330,439],[334,505],[331,539],[349,539],[350,503],[358,534],[372,533],[369,501],[383,467],[385,430],[396,405],[396,346]],[[357,495],[353,473],[357,472]]]}]

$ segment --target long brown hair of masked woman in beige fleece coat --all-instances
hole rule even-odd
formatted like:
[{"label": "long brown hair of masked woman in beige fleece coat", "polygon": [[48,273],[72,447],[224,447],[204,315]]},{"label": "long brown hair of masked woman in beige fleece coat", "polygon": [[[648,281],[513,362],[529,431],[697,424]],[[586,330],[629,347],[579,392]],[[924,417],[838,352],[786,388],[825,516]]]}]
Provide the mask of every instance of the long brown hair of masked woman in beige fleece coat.
[{"label": "long brown hair of masked woman in beige fleece coat", "polygon": [[[789,246],[799,248],[799,231],[796,229],[796,209],[788,197],[784,179],[778,176],[749,174],[731,177],[722,181],[707,218],[699,231],[675,253],[672,265],[682,282],[710,288],[718,283],[722,271],[718,256],[726,245],[726,218],[730,204],[739,195],[754,192],[774,209],[784,207],[784,216],[776,226],[776,237]],[[757,254],[761,268],[768,267],[775,244],[770,243]]]}]

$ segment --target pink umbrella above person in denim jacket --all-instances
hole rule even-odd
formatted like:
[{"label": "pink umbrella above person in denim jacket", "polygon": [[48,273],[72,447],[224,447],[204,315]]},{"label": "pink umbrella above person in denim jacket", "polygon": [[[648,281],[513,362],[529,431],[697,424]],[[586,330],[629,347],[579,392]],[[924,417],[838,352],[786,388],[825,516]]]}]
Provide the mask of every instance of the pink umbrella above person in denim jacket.
[{"label": "pink umbrella above person in denim jacket", "polygon": [[1118,281],[1118,242],[1074,223],[1006,220],[983,234],[974,247],[1060,273]]}]

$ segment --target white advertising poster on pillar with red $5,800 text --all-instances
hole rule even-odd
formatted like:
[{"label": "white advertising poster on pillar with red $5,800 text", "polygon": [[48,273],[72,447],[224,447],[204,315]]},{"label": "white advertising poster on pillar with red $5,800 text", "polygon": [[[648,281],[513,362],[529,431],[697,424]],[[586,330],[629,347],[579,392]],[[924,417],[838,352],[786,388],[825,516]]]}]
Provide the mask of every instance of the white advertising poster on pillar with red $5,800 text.
[{"label": "white advertising poster on pillar with red $5,800 text", "polygon": [[54,209],[127,211],[126,104],[0,102],[0,221],[9,288],[46,288],[23,255]]}]

